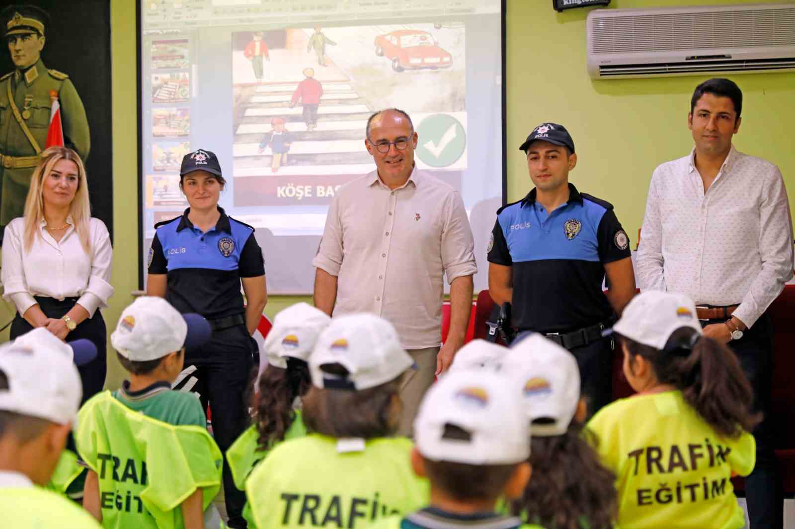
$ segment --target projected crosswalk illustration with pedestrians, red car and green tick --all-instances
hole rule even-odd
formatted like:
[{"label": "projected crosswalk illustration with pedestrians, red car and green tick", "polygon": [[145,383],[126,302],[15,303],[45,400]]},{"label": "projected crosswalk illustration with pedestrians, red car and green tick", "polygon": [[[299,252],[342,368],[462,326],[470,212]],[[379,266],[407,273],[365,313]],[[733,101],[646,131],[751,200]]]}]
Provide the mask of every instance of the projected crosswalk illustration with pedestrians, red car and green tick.
[{"label": "projected crosswalk illustration with pedestrians, red car and green tick", "polygon": [[463,24],[245,31],[231,41],[234,176],[246,179],[235,206],[330,203],[374,168],[366,120],[389,106],[415,126],[436,117],[421,166],[466,168]]}]

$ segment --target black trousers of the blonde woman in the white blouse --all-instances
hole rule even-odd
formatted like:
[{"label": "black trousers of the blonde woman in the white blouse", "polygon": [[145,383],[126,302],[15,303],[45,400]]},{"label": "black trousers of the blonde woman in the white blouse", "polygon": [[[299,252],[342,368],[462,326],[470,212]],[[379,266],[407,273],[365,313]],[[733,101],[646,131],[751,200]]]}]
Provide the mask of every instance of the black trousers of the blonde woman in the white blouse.
[{"label": "black trousers of the blonde woman in the white blouse", "polygon": [[[45,316],[48,318],[61,318],[75,306],[77,298],[66,298],[63,301],[58,301],[54,298],[37,296],[36,301]],[[11,322],[10,338],[13,340],[29,330],[33,330],[33,326],[17,312],[17,315],[14,316],[14,321]],[[99,310],[95,311],[93,318],[84,320],[75,330],[67,334],[66,341],[71,342],[80,338],[91,340],[97,348],[97,357],[94,360],[86,365],[77,367],[77,370],[80,371],[80,380],[83,383],[83,401],[80,403],[82,405],[86,400],[101,392],[103,385],[105,385],[105,375],[107,373],[107,330],[105,328],[105,320]]]}]

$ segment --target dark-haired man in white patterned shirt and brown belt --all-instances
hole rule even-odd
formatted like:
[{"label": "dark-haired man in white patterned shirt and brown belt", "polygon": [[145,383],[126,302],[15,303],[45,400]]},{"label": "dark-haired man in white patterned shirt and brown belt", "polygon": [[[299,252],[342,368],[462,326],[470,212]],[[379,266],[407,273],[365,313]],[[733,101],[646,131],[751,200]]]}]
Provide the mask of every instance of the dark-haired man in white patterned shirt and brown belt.
[{"label": "dark-haired man in white patterned shirt and brown belt", "polygon": [[[696,301],[704,335],[728,343],[754,388],[757,461],[746,479],[751,527],[782,527],[778,461],[770,431],[773,329],[767,307],[793,276],[793,229],[778,167],[740,153],[743,93],[709,79],[693,93],[688,156],[654,170],[636,276],[641,290]],[[772,420],[771,420],[772,419]]]}]

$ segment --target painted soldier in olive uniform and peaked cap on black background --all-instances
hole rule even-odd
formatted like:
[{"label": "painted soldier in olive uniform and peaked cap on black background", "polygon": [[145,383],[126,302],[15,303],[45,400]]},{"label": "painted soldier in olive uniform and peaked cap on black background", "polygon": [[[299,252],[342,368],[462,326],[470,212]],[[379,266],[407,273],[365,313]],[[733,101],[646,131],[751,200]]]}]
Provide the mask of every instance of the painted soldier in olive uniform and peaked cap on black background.
[{"label": "painted soldier in olive uniform and peaked cap on black background", "polygon": [[54,98],[60,102],[66,145],[83,160],[91,145],[86,111],[69,76],[41,62],[46,19],[44,11],[31,6],[10,6],[0,17],[16,67],[0,77],[0,226],[22,216],[30,176],[47,143]]}]

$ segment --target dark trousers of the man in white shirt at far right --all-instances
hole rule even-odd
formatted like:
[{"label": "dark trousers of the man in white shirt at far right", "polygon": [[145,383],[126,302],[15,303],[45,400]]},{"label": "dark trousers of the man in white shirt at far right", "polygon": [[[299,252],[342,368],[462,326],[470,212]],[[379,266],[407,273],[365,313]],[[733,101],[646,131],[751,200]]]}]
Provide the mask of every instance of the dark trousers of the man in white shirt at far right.
[{"label": "dark trousers of the man in white shirt at far right", "polygon": [[[725,320],[709,320],[723,323]],[[754,390],[754,412],[762,412],[762,423],[752,434],[756,439],[756,466],[746,478],[748,518],[752,529],[781,529],[784,525],[784,487],[781,470],[774,452],[774,418],[770,416],[770,388],[773,384],[773,324],[770,316],[762,315],[743,338],[732,340],[728,346],[737,355],[743,373]]]}]

